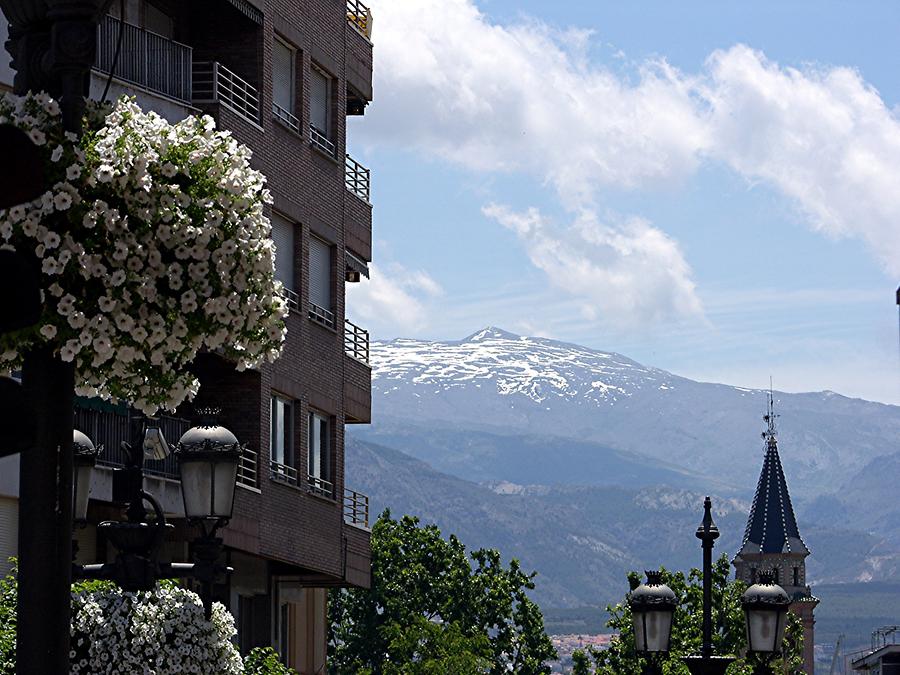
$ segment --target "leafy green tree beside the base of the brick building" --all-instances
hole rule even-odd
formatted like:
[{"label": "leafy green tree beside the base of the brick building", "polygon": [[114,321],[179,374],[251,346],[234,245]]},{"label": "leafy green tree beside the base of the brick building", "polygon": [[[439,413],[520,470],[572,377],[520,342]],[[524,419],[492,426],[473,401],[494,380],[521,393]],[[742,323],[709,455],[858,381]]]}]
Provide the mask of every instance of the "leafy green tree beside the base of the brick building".
[{"label": "leafy green tree beside the base of the brick building", "polygon": [[[470,559],[471,558],[471,559]],[[549,673],[556,657],[528,597],[534,574],[494,549],[467,555],[419,519],[385,511],[372,528],[372,588],[332,591],[333,673]]]}]

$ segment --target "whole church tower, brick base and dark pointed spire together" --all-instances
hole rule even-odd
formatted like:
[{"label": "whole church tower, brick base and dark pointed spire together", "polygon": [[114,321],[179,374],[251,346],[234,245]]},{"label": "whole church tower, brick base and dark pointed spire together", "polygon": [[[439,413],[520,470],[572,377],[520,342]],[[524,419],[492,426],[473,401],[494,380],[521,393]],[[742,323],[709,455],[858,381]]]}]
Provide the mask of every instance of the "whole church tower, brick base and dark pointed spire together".
[{"label": "whole church tower, brick base and dark pointed spire together", "polygon": [[762,572],[772,572],[775,582],[791,597],[790,610],[803,621],[803,670],[814,672],[813,611],[819,604],[806,585],[806,557],[809,549],[800,537],[794,507],[778,456],[777,415],[769,393],[768,412],[763,417],[767,429],[762,437],[766,457],[753,496],[750,518],[741,550],[734,558],[735,576],[747,584],[756,583]]}]

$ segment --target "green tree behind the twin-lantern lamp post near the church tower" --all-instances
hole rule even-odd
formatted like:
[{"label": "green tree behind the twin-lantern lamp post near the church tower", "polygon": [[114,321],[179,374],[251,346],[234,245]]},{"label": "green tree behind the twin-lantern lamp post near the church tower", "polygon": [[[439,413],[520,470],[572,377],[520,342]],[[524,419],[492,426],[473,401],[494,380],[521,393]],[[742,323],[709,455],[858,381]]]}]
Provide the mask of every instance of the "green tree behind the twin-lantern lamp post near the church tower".
[{"label": "green tree behind the twin-lantern lamp post near the church tower", "polygon": [[[731,571],[728,556],[723,555],[712,568],[712,626],[713,652],[721,655],[737,655],[746,651],[744,611],[741,595],[746,585],[737,579],[729,581]],[[674,591],[678,606],[672,621],[670,656],[666,660],[667,675],[687,675],[687,667],[679,660],[682,656],[699,654],[703,640],[703,574],[692,569],[685,577],[683,572],[662,570],[663,581]],[[631,588],[636,588],[641,577],[637,572],[628,574]],[[607,608],[610,619],[607,626],[618,631],[618,636],[608,649],[589,651],[594,660],[596,675],[640,675],[644,659],[637,653],[631,610],[627,600]],[[786,675],[803,674],[803,624],[794,614],[788,615],[788,625],[782,647],[783,655],[770,664],[772,672]],[[584,653],[579,662],[584,662]],[[763,659],[748,654],[737,659],[728,669],[729,675],[750,675],[766,672]],[[583,669],[581,672],[589,672]]]}]

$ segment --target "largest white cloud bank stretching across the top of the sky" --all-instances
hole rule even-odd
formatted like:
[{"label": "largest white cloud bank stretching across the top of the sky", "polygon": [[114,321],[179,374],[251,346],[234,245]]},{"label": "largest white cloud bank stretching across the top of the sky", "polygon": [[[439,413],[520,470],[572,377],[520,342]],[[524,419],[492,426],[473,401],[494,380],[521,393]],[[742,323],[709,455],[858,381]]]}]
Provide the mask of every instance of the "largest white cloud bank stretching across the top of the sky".
[{"label": "largest white cloud bank stretching across the top of the sky", "polygon": [[678,182],[720,162],[900,274],[900,120],[858,72],[787,68],[737,45],[697,73],[652,60],[623,75],[590,63],[585,31],[491,23],[472,0],[373,5],[370,142],[527,172],[573,214],[604,187]]}]

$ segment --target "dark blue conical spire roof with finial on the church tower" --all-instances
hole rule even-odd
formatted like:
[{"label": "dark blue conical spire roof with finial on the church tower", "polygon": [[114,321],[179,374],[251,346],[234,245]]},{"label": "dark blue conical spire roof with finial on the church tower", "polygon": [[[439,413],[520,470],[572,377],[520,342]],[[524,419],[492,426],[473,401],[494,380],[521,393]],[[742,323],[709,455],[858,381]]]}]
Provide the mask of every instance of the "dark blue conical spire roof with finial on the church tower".
[{"label": "dark blue conical spire roof with finial on the church tower", "polygon": [[768,429],[763,433],[766,441],[766,458],[762,473],[759,475],[756,494],[753,496],[744,543],[738,555],[754,553],[809,555],[809,549],[800,538],[797,518],[794,516],[794,507],[784,478],[784,469],[778,456],[775,418],[772,395],[769,394],[769,412],[763,417],[768,424]]}]

